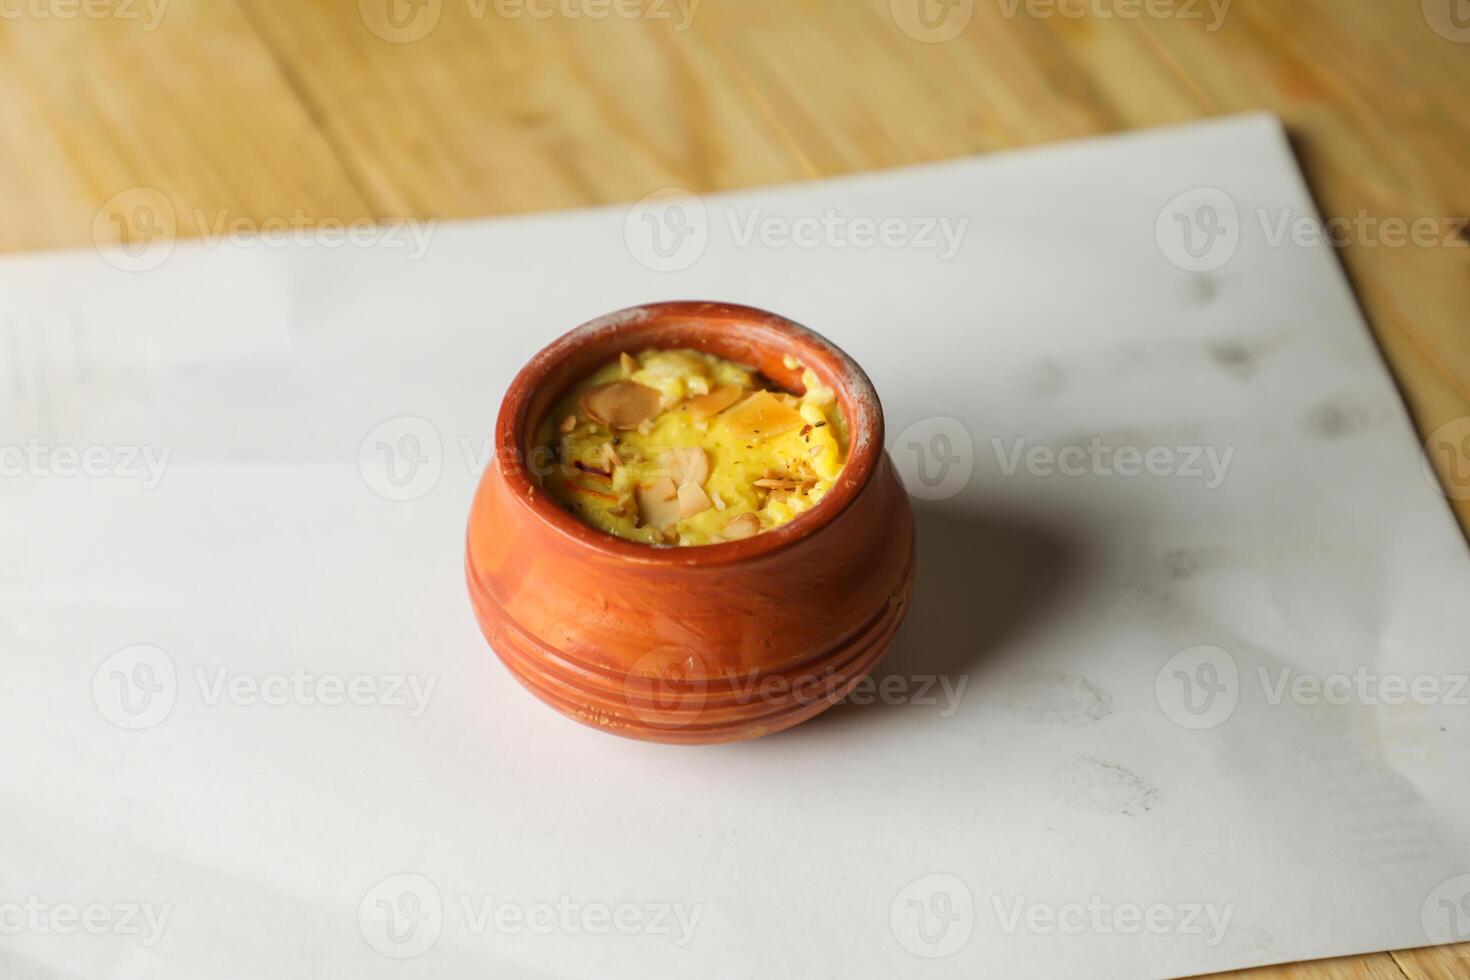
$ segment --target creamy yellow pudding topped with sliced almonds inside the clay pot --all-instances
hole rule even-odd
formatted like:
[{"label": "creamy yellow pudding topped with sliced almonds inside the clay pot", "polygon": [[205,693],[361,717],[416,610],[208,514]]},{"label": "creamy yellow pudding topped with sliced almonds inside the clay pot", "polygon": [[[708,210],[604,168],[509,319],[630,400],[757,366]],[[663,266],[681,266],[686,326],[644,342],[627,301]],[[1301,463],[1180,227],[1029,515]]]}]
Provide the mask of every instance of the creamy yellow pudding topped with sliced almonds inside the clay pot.
[{"label": "creamy yellow pudding topped with sliced almonds inside the clay pot", "polygon": [[847,461],[832,389],[810,369],[801,381],[797,397],[701,351],[622,354],[541,422],[532,470],[572,514],[619,538],[750,538],[814,507]]}]

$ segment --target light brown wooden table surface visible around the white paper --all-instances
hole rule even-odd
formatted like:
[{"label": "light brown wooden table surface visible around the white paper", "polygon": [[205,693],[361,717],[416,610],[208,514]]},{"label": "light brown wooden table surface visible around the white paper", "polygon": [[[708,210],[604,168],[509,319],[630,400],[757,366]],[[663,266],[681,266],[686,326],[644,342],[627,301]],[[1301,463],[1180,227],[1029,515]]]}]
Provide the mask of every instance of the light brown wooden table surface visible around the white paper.
[{"label": "light brown wooden table surface visible around the white paper", "polygon": [[[140,187],[179,235],[448,219],[1254,109],[1286,119],[1324,216],[1470,215],[1466,0],[926,3],[3,0],[0,250],[91,244]],[[1470,416],[1470,232],[1355,238],[1342,260],[1427,438]],[[1444,442],[1442,476],[1470,469]],[[1470,945],[1250,976],[1464,977]]]}]

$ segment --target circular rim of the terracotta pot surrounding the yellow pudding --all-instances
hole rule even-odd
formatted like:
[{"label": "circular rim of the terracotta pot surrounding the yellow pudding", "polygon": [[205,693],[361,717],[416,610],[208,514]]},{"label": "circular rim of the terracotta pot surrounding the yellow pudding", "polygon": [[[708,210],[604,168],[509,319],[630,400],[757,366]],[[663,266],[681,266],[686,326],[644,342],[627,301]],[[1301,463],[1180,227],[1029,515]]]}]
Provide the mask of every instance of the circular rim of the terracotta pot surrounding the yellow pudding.
[{"label": "circular rim of the terracotta pot surrounding the yellow pudding", "polygon": [[[742,339],[760,348],[779,364],[786,354],[810,367],[836,392],[847,419],[847,463],[832,489],[811,510],[789,523],[741,541],[698,547],[659,548],[617,538],[585,525],[563,510],[526,467],[529,439],[539,419],[531,419],[531,407],[544,382],[569,357],[585,354],[588,348],[604,350],[614,359],[620,350],[642,350],[639,338],[659,334],[679,341],[686,331],[688,345],[704,350],[698,332],[710,325],[720,331],[741,329]],[[623,344],[623,341],[631,341]],[[770,372],[764,372],[770,376]],[[778,372],[779,373],[779,372]],[[575,383],[575,381],[572,382]],[[554,533],[567,538],[589,552],[619,561],[644,566],[698,567],[748,561],[782,551],[816,533],[836,519],[869,483],[883,453],[883,411],[872,381],[842,348],[795,320],[778,313],[734,303],[672,300],[626,307],[563,334],[542,348],[510,382],[495,420],[495,461],[517,507],[529,511]]]}]

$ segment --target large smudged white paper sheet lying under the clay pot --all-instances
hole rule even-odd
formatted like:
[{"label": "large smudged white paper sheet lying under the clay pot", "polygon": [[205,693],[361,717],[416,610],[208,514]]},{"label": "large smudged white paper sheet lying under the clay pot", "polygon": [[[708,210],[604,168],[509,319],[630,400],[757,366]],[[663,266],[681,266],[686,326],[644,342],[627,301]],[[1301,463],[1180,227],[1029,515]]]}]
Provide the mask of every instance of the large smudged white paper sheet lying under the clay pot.
[{"label": "large smudged white paper sheet lying under the clay pot", "polygon": [[[1192,256],[1197,188],[1236,216],[1179,198]],[[610,207],[417,259],[0,264],[0,971],[1136,977],[1470,936],[1470,561],[1335,256],[1272,244],[1313,215],[1255,116],[709,197],[663,253]],[[506,383],[657,298],[829,335],[942,497],[886,698],[644,745],[476,632]],[[1394,677],[1433,704],[1364,702]]]}]

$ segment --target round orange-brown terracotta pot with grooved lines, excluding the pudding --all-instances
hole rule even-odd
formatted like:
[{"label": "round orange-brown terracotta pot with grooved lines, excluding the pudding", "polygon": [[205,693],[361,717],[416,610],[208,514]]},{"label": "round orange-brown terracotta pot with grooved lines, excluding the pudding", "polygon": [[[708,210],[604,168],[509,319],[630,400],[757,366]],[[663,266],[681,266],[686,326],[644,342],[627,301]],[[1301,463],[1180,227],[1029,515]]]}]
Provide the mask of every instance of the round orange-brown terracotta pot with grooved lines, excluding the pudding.
[{"label": "round orange-brown terracotta pot with grooved lines, excluding the pudding", "polygon": [[[832,491],[775,530],[651,548],[589,527],[537,482],[537,422],[620,351],[694,348],[794,392],[792,356],[833,388],[848,461]],[[872,382],[791,320],[719,303],[657,303],[560,338],[516,376],[469,517],[467,576],[506,667],[567,717],[637,739],[732,742],[798,724],[878,663],[908,608],[914,529],[883,451]]]}]

